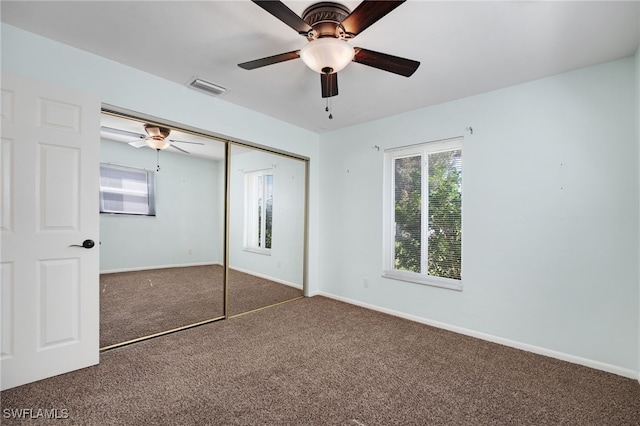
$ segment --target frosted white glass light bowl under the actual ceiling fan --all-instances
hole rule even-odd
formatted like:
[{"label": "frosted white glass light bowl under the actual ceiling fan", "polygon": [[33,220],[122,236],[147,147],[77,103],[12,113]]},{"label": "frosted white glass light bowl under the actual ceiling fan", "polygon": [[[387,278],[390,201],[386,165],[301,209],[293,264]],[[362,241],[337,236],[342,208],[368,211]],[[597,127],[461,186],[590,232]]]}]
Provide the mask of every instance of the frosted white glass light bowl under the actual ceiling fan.
[{"label": "frosted white glass light bowl under the actual ceiling fan", "polygon": [[324,74],[324,68],[341,71],[353,60],[355,51],[346,41],[337,38],[319,38],[300,50],[300,59],[312,70]]}]

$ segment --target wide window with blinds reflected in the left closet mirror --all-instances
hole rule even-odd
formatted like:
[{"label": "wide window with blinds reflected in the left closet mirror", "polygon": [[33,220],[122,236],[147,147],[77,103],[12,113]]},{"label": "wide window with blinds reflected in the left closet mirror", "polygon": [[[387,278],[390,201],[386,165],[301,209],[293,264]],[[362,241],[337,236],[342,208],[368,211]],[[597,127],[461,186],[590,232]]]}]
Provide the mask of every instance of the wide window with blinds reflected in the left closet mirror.
[{"label": "wide window with blinds reflected in the left closet mirror", "polygon": [[100,164],[100,213],[155,216],[154,173]]}]

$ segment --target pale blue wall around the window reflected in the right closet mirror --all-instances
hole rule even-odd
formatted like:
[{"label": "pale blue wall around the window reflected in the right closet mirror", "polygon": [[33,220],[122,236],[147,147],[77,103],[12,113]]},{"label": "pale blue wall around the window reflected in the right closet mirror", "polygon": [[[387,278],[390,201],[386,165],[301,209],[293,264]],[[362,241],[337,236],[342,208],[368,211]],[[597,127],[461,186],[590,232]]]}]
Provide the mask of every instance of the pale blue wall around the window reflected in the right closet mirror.
[{"label": "pale blue wall around the window reflected in the right closet mirror", "polygon": [[[234,155],[230,172],[229,266],[302,286],[304,265],[304,162],[260,151]],[[244,173],[273,173],[270,255],[244,250]]]}]

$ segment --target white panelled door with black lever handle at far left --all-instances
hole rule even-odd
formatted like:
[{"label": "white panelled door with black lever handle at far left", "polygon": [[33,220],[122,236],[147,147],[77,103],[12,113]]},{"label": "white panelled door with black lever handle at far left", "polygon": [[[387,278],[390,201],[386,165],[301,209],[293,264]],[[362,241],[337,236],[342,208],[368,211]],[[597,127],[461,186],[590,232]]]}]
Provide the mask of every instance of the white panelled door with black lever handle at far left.
[{"label": "white panelled door with black lever handle at far left", "polygon": [[3,74],[0,111],[4,390],[99,361],[100,102]]}]

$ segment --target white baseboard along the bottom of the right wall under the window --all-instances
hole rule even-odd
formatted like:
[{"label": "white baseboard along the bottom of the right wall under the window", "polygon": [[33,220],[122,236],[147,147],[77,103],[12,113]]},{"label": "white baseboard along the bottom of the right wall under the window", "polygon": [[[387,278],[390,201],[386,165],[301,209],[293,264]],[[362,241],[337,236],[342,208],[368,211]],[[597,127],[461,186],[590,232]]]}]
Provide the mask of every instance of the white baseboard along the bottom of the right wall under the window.
[{"label": "white baseboard along the bottom of the right wall under the window", "polygon": [[324,296],[330,299],[339,300],[341,302],[349,303],[351,305],[360,306],[363,308],[371,309],[378,312],[383,312],[385,314],[393,315],[396,317],[408,319],[410,321],[419,322],[422,324],[430,325],[432,327],[441,328],[448,331],[453,331],[455,333],[464,334],[465,336],[471,336],[478,339],[486,340],[493,343],[498,343],[504,346],[509,346],[516,349],[521,349],[527,352],[532,352],[538,355],[548,356],[550,358],[559,359],[561,361],[571,362],[573,364],[583,365],[585,367],[594,368],[596,370],[606,371],[608,373],[617,374],[618,376],[627,377],[630,379],[636,379],[640,382],[640,371],[630,370],[627,368],[618,367],[616,365],[607,364],[600,361],[594,361],[588,358],[582,358],[575,355],[566,354],[564,352],[554,351],[552,349],[546,349],[539,346],[530,345],[528,343],[522,343],[515,340],[505,339],[503,337],[494,336],[492,334],[483,333],[480,331],[471,330],[464,327],[458,327],[451,324],[446,324],[439,321],[430,320],[427,318],[419,317],[416,315],[406,314],[404,312],[395,311],[393,309],[382,308],[376,305],[370,305],[368,303],[363,303],[358,300],[349,299],[342,296],[337,296],[331,293],[325,293],[323,291],[316,291],[313,294],[309,294],[309,297],[313,296]]}]

